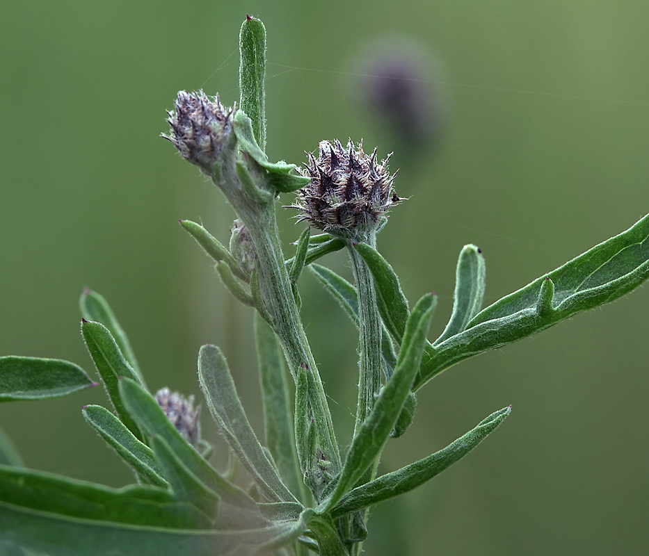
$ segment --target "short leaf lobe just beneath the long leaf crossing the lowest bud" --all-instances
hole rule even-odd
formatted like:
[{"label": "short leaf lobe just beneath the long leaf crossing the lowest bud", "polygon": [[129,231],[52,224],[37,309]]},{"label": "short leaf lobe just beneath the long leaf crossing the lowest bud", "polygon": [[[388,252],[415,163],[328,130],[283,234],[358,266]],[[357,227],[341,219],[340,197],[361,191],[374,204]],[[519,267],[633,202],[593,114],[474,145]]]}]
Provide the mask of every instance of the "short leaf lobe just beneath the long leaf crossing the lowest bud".
[{"label": "short leaf lobe just beneath the long leaf crossing the lowest bud", "polygon": [[189,502],[214,521],[218,495],[184,466],[161,436],[152,436],[151,447],[163,468],[164,477],[171,486],[175,500]]}]

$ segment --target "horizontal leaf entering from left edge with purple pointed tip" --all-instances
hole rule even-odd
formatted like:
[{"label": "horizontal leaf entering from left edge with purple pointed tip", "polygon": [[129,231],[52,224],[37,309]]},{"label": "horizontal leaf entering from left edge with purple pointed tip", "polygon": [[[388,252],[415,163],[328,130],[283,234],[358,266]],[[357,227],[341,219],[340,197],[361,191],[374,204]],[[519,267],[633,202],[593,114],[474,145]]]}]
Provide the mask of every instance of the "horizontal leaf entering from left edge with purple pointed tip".
[{"label": "horizontal leaf entering from left edge with purple pointed tip", "polygon": [[96,386],[81,367],[61,359],[0,357],[0,402],[56,398]]}]

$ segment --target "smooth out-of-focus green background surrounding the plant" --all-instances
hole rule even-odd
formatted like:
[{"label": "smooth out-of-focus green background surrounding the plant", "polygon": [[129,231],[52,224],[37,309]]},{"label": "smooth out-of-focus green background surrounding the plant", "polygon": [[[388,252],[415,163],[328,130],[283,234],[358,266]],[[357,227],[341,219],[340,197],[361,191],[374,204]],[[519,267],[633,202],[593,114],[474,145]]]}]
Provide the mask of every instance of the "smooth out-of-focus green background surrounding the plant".
[{"label": "smooth out-of-focus green background surrounding the plant", "polygon": [[[493,302],[649,212],[645,0],[6,2],[1,354],[92,370],[77,309],[89,286],[111,302],[153,388],[200,398],[198,347],[221,345],[261,432],[251,313],[177,224],[201,220],[225,242],[232,211],[159,138],[179,89],[237,100],[246,12],[268,30],[271,159],[301,163],[325,138],[394,150],[396,187],[410,200],[379,247],[410,300],[438,292],[431,338],[451,311],[465,243],[486,256]],[[421,72],[410,84],[435,115],[418,146],[372,117],[358,76],[406,43]],[[280,215],[287,242],[297,238],[293,211]],[[342,255],[326,262],[350,272]],[[310,276],[300,286],[346,445],[356,333]],[[386,471],[496,409],[513,404],[512,414],[454,468],[378,507],[367,553],[649,553],[648,324],[641,288],[428,384],[415,423],[385,450]],[[83,422],[88,403],[105,403],[103,393],[2,404],[0,423],[30,467],[126,484],[125,466]],[[207,411],[202,423],[217,439]]]}]

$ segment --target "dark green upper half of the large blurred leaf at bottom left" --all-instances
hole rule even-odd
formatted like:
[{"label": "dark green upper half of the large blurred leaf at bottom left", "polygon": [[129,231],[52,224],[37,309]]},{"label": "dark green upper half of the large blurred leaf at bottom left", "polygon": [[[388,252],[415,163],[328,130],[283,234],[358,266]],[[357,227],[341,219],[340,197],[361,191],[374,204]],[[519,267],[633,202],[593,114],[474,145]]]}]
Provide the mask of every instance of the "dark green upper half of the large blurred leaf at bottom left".
[{"label": "dark green upper half of the large blurred leaf at bottom left", "polygon": [[[49,512],[131,525],[170,528],[208,526],[195,507],[174,500],[171,494],[152,486],[108,486],[59,477],[50,473],[0,466],[0,504],[35,512]],[[5,523],[0,520],[0,535]]]}]

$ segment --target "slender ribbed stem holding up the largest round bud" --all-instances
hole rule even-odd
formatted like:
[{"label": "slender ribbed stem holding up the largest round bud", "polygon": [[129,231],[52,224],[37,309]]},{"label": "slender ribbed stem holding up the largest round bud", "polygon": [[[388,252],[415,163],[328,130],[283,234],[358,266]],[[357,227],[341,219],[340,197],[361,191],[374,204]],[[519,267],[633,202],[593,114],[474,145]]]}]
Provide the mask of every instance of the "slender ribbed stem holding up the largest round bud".
[{"label": "slender ribbed stem holding up the largest round bud", "polygon": [[[364,243],[376,247],[376,236],[370,231],[362,238]],[[367,418],[374,406],[374,400],[380,389],[381,373],[381,320],[376,304],[374,279],[362,256],[348,245],[351,256],[356,291],[358,292],[358,311],[360,317],[360,373],[358,377],[358,405],[356,407],[356,424],[358,427]]]}]

